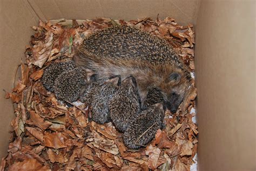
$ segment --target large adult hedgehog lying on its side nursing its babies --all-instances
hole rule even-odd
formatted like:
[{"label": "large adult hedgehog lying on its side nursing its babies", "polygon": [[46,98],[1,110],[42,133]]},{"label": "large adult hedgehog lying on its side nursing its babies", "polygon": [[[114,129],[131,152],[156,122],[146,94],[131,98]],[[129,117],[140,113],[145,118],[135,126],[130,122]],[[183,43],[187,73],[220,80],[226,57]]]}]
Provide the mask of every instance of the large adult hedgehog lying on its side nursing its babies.
[{"label": "large adult hedgehog lying on its side nursing its babies", "polygon": [[149,89],[158,88],[165,106],[176,112],[191,87],[191,75],[163,39],[135,27],[115,26],[85,38],[73,56],[76,66],[94,70],[99,79],[136,77],[142,107]]}]

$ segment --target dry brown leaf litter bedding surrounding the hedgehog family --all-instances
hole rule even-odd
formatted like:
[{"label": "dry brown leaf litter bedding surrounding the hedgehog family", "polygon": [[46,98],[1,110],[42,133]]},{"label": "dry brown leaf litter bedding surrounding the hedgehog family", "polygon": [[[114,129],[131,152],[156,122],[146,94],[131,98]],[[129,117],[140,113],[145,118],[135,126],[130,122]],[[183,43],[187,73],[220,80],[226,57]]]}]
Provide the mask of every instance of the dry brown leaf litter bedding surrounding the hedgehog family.
[{"label": "dry brown leaf litter bedding surrounding the hedgehog family", "polygon": [[[21,79],[6,92],[15,105],[11,121],[8,155],[1,170],[190,170],[197,153],[197,125],[194,112],[197,92],[192,91],[183,108],[165,112],[166,127],[145,148],[124,146],[122,134],[111,123],[89,122],[89,110],[82,103],[70,108],[42,86],[44,69],[52,62],[71,60],[74,47],[83,38],[115,25],[135,26],[164,38],[194,73],[193,25],[178,25],[174,19],[138,20],[64,19],[39,21],[21,63]],[[193,76],[192,76],[193,77]]]}]

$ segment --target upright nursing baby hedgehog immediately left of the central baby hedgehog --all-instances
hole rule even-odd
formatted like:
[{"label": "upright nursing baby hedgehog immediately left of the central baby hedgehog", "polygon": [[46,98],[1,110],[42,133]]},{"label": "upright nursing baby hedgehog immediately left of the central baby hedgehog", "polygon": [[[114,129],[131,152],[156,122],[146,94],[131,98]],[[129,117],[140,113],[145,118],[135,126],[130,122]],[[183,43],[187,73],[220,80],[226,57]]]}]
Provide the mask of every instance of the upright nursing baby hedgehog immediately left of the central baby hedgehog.
[{"label": "upright nursing baby hedgehog immediately left of the central baby hedgehog", "polygon": [[120,76],[110,77],[103,84],[93,83],[85,92],[82,102],[91,106],[92,120],[104,124],[110,122],[109,100],[120,85]]}]

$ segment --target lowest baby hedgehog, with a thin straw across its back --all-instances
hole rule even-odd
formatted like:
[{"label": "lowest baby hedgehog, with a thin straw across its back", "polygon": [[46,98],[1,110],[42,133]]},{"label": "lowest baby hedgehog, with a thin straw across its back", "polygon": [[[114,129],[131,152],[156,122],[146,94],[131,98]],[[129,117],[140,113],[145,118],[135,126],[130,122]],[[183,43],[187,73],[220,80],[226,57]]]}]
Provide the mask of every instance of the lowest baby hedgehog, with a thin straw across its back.
[{"label": "lowest baby hedgehog, with a thin straw across its back", "polygon": [[157,103],[142,111],[127,127],[123,134],[126,147],[138,149],[147,145],[156,135],[158,129],[163,128],[164,108]]}]

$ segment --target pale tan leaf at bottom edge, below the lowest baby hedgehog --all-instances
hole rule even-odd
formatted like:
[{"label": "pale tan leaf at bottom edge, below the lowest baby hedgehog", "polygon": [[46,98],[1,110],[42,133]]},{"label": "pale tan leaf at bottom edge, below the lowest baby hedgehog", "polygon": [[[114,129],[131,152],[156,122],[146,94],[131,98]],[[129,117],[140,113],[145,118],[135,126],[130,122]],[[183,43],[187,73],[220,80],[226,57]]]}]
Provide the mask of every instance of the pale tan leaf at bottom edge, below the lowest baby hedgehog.
[{"label": "pale tan leaf at bottom edge, below the lowest baby hedgehog", "polygon": [[160,155],[161,150],[152,145],[146,147],[146,155],[149,155],[149,168],[154,170],[157,168],[157,161]]}]

